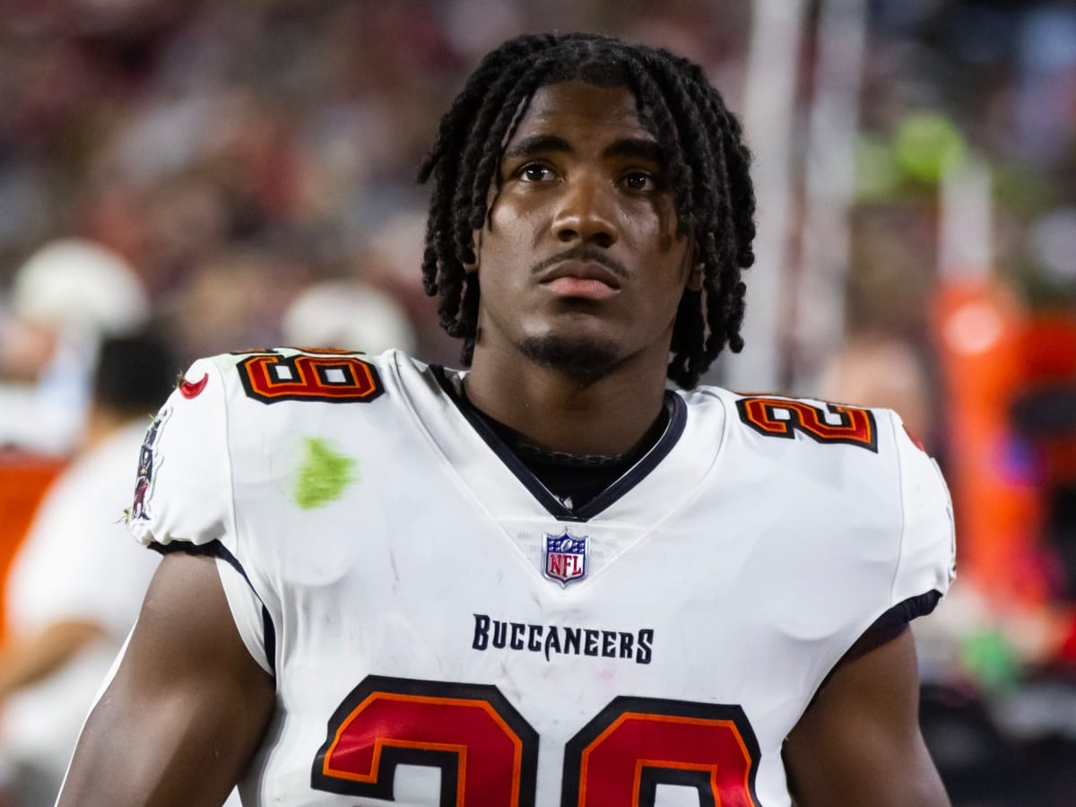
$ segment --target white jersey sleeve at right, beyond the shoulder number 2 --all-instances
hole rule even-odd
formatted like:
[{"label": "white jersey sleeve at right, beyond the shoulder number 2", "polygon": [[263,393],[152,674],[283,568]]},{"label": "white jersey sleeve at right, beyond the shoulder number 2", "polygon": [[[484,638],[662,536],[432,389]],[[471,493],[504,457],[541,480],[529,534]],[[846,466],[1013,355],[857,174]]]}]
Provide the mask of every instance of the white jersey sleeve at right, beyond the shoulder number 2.
[{"label": "white jersey sleeve at right, beyond the shoulder number 2", "polygon": [[955,578],[955,533],[949,490],[937,463],[893,414],[900,458],[901,550],[890,593],[907,619],[926,613]]}]

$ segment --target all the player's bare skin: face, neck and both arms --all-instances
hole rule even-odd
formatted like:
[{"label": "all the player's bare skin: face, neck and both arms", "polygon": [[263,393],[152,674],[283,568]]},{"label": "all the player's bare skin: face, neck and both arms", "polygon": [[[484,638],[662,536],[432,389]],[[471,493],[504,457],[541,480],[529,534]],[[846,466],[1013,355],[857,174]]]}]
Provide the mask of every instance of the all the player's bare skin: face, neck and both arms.
[{"label": "all the player's bare skin: face, neck and both arms", "polygon": [[[469,268],[482,296],[466,383],[535,444],[619,454],[661,411],[677,303],[702,279],[648,141],[628,90],[571,81],[537,91],[506,147]],[[555,259],[566,252],[575,263]],[[849,659],[785,744],[797,807],[948,805],[919,732],[910,632]],[[59,805],[216,807],[274,703],[214,562],[168,555]]]}]

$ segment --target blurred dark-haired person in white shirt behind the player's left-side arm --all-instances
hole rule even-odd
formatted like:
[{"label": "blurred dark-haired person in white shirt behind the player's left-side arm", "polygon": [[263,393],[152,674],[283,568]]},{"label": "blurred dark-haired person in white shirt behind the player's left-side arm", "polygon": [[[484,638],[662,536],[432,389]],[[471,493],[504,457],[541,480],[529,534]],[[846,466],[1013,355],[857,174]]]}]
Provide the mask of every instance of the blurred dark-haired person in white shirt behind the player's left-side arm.
[{"label": "blurred dark-haired person in white shirt behind the player's left-side arm", "polygon": [[131,539],[124,508],[150,416],[176,372],[157,339],[101,345],[83,444],[45,495],[5,592],[0,803],[54,803],[82,721],[138,617],[157,555]]}]

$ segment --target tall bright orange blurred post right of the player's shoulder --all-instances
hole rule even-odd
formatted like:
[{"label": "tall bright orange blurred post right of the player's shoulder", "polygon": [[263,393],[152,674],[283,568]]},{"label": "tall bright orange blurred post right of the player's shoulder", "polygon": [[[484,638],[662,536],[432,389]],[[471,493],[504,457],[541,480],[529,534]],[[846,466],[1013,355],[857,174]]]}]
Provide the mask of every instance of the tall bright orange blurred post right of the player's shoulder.
[{"label": "tall bright orange blurred post right of the player's shoulder", "polygon": [[993,279],[947,282],[936,298],[959,569],[1002,610],[1049,595],[1037,548],[1042,472],[1009,416],[1027,381],[1027,323],[1016,295]]}]

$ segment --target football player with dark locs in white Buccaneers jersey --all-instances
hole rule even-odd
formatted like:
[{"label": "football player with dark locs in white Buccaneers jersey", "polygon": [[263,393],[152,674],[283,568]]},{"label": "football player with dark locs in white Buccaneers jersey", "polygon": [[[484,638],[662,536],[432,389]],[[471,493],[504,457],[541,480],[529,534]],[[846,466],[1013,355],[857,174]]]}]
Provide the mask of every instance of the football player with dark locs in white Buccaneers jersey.
[{"label": "football player with dark locs in white Buccaneers jersey", "polygon": [[421,169],[469,369],[194,364],[60,805],[948,804],[906,628],[953,574],[935,465],[890,411],[696,388],[742,346],[748,162],[669,53],[489,55]]}]

